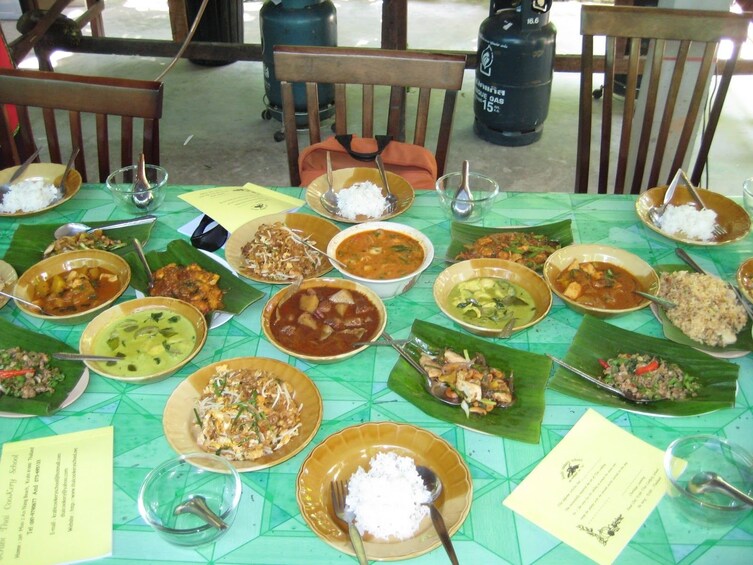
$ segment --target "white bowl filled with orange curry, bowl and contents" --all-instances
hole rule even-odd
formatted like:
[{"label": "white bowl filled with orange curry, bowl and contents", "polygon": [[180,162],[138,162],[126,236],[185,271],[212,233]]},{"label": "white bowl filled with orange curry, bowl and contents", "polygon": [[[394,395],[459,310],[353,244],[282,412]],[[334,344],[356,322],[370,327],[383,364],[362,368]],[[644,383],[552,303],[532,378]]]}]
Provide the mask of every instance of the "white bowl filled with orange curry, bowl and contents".
[{"label": "white bowl filled with orange curry, bowl and contents", "polygon": [[336,234],[327,255],[347,265],[335,269],[386,300],[410,290],[434,259],[431,240],[395,222],[356,224]]}]

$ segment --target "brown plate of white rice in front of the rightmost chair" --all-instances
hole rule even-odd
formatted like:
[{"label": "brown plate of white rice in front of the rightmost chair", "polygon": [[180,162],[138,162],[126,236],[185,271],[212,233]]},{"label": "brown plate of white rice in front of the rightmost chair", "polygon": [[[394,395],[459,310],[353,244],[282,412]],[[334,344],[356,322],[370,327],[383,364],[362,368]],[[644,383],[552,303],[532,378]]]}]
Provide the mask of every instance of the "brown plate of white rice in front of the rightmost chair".
[{"label": "brown plate of white rice in front of the rightmost chair", "polygon": [[[706,210],[699,210],[690,192],[684,186],[677,188],[659,225],[655,224],[649,210],[661,206],[666,186],[647,190],[635,202],[635,211],[641,222],[649,229],[673,241],[691,245],[724,245],[738,241],[748,235],[751,228],[750,216],[735,201],[718,192],[697,189]],[[715,236],[715,224],[726,230],[725,235]]]}]

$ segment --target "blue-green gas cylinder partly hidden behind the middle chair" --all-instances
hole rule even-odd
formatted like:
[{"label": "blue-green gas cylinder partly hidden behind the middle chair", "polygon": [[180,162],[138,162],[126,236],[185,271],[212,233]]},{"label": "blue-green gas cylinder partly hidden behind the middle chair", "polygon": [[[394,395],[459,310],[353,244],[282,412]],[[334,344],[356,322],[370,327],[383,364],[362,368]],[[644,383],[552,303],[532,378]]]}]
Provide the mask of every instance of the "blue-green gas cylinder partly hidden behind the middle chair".
[{"label": "blue-green gas cylinder partly hidden behind the middle chair", "polygon": [[[282,120],[282,90],[275,78],[275,45],[337,45],[337,13],[331,0],[269,0],[259,12],[261,26],[262,63],[264,65],[264,93],[271,117]],[[306,87],[293,85],[296,113],[306,123]],[[319,104],[325,112],[320,118],[334,113],[335,91],[332,85],[319,86]],[[264,114],[262,114],[264,116]],[[266,116],[265,116],[266,117]],[[296,120],[299,122],[299,120]]]}]

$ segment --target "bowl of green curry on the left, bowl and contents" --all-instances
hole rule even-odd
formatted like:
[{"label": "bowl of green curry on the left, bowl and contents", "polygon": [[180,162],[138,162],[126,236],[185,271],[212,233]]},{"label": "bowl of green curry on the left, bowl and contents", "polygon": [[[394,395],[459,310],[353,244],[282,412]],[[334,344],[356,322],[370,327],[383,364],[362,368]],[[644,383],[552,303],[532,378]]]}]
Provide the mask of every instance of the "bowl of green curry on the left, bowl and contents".
[{"label": "bowl of green curry on the left, bowl and contents", "polygon": [[127,383],[165,379],[191,361],[207,339],[207,322],[198,308],[165,296],[116,304],[84,328],[84,355],[122,357],[123,361],[85,361],[96,373]]}]

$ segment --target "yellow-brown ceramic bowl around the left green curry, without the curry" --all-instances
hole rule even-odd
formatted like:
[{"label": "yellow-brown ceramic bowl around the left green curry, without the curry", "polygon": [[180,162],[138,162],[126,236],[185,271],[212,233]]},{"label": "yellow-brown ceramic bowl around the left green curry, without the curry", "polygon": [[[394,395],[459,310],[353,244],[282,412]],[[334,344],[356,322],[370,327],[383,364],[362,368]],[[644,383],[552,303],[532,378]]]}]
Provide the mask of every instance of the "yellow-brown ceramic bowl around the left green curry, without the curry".
[{"label": "yellow-brown ceramic bowl around the left green curry, without the curry", "polygon": [[150,296],[146,298],[137,298],[135,300],[128,300],[112,306],[108,310],[102,312],[99,316],[94,318],[84,329],[79,340],[79,351],[84,354],[102,355],[104,352],[97,351],[95,344],[99,342],[98,337],[112,324],[118,320],[125,319],[127,316],[143,312],[150,311],[155,314],[172,315],[179,314],[186,318],[196,334],[196,338],[193,343],[193,347],[188,356],[182,359],[178,363],[173,363],[165,366],[164,368],[144,373],[135,373],[133,376],[123,376],[119,372],[115,372],[113,366],[108,362],[102,361],[85,361],[86,365],[93,371],[99,373],[104,377],[108,377],[115,380],[122,380],[128,383],[151,383],[167,378],[175,371],[183,367],[204,346],[204,342],[207,339],[207,322],[204,315],[198,308],[190,305],[188,302],[183,302],[176,298],[167,298],[164,296]]}]

